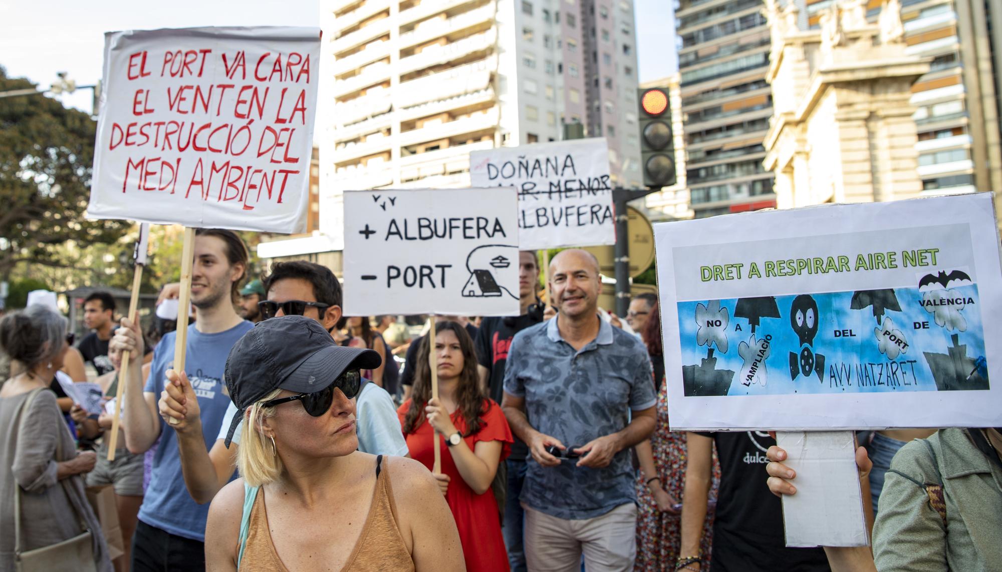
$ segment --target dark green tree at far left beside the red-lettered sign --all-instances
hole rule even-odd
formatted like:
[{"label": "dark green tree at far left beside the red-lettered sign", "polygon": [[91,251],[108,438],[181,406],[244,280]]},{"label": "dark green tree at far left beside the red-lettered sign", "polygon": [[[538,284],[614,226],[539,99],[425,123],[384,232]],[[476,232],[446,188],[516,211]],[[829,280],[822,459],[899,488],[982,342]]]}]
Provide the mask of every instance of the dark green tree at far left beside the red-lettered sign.
[{"label": "dark green tree at far left beside the red-lettered sign", "polygon": [[[7,77],[0,92],[35,87]],[[64,256],[112,245],[131,226],[83,217],[90,196],[96,125],[86,114],[42,95],[0,98],[0,279],[15,266],[82,268]]]}]

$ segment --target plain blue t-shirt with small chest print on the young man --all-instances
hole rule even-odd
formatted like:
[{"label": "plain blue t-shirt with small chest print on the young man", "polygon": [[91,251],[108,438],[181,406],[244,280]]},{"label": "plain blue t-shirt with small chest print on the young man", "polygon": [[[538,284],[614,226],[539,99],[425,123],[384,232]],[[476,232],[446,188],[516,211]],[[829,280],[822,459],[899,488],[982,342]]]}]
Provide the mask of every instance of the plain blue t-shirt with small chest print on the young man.
[{"label": "plain blue t-shirt with small chest print on the young man", "polygon": [[[188,326],[184,372],[198,397],[206,450],[215,444],[216,433],[229,405],[222,378],[226,357],[233,344],[253,327],[250,322],[242,321],[224,332],[203,334],[194,324]],[[168,333],[153,351],[143,391],[152,392],[157,399],[163,391],[166,371],[173,367],[174,340],[175,332]],[[233,478],[235,476],[234,472]],[[207,516],[208,504],[194,502],[184,486],[177,434],[161,419],[160,445],[153,454],[153,470],[139,509],[139,520],[170,534],[204,542]]]}]

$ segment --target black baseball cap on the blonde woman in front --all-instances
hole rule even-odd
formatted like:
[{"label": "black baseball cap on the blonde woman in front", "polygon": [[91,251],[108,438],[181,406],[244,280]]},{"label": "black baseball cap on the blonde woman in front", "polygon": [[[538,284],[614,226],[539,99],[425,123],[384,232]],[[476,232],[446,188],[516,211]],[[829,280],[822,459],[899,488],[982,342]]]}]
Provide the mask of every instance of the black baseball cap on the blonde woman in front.
[{"label": "black baseball cap on the blonde woman in front", "polygon": [[225,381],[238,414],[226,433],[233,438],[243,412],[276,389],[315,393],[353,369],[376,369],[379,352],[340,346],[320,322],[305,316],[282,316],[260,322],[229,350]]}]

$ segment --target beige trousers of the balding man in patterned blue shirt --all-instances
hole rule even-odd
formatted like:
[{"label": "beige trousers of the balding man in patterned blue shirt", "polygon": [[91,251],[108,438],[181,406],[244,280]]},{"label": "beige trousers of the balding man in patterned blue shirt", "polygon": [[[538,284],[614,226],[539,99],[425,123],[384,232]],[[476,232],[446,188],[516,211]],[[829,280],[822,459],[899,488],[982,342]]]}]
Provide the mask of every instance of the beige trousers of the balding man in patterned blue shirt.
[{"label": "beige trousers of the balding man in patterned blue shirt", "polygon": [[636,558],[636,505],[619,505],[585,520],[525,509],[525,563],[529,572],[629,572]]}]

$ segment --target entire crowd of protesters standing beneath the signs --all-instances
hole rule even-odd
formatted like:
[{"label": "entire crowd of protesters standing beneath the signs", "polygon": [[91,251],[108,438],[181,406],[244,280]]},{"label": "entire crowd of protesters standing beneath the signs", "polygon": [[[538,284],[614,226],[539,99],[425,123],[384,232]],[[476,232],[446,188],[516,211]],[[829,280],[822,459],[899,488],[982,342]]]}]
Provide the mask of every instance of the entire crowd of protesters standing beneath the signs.
[{"label": "entire crowd of protesters standing beneath the signs", "polygon": [[[9,312],[0,572],[67,544],[87,562],[52,570],[1002,570],[998,428],[861,434],[873,549],[788,548],[775,435],[670,431],[657,297],[609,314],[595,258],[565,250],[544,301],[538,260],[519,316],[412,337],[345,316],[324,266],[248,281],[240,238],[201,229],[184,371],[176,284],[146,331],[95,292],[78,344],[57,307]],[[113,408],[64,390],[88,380],[124,384],[114,461]],[[113,491],[113,563],[87,487]]]}]

